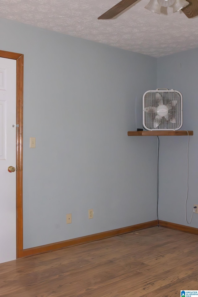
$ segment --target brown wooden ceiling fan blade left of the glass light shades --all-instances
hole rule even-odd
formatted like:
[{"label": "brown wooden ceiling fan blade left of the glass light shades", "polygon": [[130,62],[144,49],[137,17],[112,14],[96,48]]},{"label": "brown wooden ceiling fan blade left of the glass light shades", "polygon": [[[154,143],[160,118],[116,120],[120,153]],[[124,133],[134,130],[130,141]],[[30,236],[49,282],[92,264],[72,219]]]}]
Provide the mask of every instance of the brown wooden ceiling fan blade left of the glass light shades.
[{"label": "brown wooden ceiling fan blade left of the glass light shades", "polygon": [[131,6],[137,0],[122,0],[115,6],[111,7],[108,11],[99,16],[98,19],[112,19],[114,16],[118,15],[120,12],[125,10],[127,7]]}]

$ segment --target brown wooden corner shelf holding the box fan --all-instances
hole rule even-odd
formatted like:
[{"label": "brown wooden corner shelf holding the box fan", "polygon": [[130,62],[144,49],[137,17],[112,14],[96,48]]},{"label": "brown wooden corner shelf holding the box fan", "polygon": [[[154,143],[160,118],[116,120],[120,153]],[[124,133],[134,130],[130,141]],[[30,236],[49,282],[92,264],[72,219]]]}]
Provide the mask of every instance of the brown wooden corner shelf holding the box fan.
[{"label": "brown wooden corner shelf holding the box fan", "polygon": [[177,130],[177,131],[128,131],[128,136],[187,136],[187,135],[193,135],[193,131],[187,131],[186,130]]}]

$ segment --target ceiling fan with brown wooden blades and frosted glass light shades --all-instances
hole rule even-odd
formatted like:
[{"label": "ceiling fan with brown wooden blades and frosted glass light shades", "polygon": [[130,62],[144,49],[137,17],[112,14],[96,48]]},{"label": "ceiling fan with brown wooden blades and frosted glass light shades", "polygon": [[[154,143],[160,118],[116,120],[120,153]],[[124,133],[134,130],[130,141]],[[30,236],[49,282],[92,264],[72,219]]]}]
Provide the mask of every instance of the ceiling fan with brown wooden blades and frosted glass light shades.
[{"label": "ceiling fan with brown wooden blades and frosted glass light shades", "polygon": [[[98,19],[112,19],[136,1],[137,0],[122,0],[99,16]],[[181,10],[189,19],[198,15],[198,0],[188,0],[188,2],[186,0],[150,0],[145,8],[160,14],[161,6],[167,7],[171,5],[173,6],[173,12]]]}]

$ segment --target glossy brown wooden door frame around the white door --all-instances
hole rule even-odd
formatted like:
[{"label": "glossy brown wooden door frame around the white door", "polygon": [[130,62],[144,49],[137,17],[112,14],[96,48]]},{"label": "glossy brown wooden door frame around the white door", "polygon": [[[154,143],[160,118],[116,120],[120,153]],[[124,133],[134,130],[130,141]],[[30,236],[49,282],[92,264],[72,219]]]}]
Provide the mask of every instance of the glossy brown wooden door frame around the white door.
[{"label": "glossy brown wooden door frame around the white door", "polygon": [[16,60],[16,258],[23,256],[23,88],[24,55],[0,50],[0,57]]}]

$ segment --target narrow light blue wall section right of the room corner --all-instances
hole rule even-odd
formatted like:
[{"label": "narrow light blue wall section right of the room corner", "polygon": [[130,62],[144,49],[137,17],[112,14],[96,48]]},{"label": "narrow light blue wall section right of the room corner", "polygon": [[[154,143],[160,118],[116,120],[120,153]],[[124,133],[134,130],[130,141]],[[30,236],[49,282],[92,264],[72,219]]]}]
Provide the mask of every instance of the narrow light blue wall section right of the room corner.
[{"label": "narrow light blue wall section right of the room corner", "polygon": [[[183,94],[183,130],[193,130],[189,143],[189,191],[187,218],[198,204],[198,49],[169,55],[157,60],[158,88],[173,88]],[[160,137],[159,218],[188,225],[185,221],[187,195],[187,136]],[[192,227],[198,227],[194,214]]]}]

